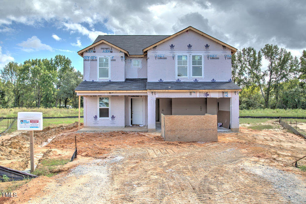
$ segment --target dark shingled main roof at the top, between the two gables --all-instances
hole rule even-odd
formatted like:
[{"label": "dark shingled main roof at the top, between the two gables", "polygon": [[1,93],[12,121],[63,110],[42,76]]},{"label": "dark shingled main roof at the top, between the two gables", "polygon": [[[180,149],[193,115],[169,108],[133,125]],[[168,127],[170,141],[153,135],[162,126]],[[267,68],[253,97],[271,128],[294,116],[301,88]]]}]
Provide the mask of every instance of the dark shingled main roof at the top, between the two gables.
[{"label": "dark shingled main roof at the top, between the two gables", "polygon": [[143,49],[169,36],[170,35],[99,35],[92,44],[100,40],[106,40],[128,51],[129,55],[143,55]]}]

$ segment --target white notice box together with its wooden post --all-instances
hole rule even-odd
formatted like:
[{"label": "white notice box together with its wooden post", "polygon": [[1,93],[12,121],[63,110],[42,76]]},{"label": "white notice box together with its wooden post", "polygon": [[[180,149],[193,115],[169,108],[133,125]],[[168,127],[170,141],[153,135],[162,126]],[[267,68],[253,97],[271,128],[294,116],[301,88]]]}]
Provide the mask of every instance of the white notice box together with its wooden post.
[{"label": "white notice box together with its wooden post", "polygon": [[18,112],[17,130],[30,130],[31,173],[34,171],[34,130],[43,130],[42,112]]}]

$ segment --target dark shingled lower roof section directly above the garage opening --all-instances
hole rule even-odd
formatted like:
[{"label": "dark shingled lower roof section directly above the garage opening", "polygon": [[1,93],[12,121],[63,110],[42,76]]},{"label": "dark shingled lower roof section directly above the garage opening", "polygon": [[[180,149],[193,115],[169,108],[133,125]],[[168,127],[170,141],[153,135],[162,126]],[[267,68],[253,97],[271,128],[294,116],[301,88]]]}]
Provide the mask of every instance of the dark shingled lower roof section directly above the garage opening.
[{"label": "dark shingled lower roof section directly above the garage opening", "polygon": [[[170,88],[169,88],[170,87]],[[236,90],[234,82],[147,82],[147,90]]]}]

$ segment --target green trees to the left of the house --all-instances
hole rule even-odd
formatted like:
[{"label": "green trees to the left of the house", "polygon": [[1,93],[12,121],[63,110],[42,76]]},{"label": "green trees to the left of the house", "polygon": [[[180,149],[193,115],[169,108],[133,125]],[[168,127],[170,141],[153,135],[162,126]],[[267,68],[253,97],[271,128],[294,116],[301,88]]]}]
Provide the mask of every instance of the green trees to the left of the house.
[{"label": "green trees to the left of the house", "polygon": [[66,56],[9,62],[0,74],[0,108],[78,107],[74,89],[83,75]]}]

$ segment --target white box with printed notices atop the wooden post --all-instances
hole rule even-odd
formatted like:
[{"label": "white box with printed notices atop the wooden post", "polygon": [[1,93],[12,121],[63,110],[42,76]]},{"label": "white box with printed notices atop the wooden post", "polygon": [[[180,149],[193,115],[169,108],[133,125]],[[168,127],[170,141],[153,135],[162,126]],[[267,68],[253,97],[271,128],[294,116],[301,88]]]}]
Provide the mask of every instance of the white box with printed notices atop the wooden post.
[{"label": "white box with printed notices atop the wooden post", "polygon": [[18,112],[17,130],[43,130],[43,113]]}]

